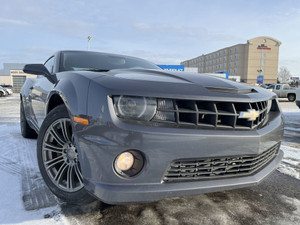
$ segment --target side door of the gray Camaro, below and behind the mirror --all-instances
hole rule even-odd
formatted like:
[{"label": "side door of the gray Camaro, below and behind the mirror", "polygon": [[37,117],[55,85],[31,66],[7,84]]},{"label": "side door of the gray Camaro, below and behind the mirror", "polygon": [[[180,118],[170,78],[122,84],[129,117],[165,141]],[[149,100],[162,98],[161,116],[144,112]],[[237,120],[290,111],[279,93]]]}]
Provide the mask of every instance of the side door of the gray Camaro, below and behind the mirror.
[{"label": "side door of the gray Camaro, below and behind the mirror", "polygon": [[[53,74],[55,57],[50,57],[44,64],[48,71]],[[33,86],[30,87],[31,106],[34,113],[33,120],[37,127],[40,128],[46,117],[46,100],[48,93],[52,90],[54,84],[51,83],[45,76],[37,76]]]}]

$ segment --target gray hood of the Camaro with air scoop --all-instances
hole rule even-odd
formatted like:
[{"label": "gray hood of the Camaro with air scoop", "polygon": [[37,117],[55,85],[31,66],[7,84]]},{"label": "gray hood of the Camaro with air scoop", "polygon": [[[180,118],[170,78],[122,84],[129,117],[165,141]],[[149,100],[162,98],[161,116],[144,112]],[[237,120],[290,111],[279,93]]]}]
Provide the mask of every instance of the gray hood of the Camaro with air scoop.
[{"label": "gray hood of the Camaro with air scoop", "polygon": [[163,70],[111,70],[93,75],[93,81],[114,94],[216,100],[236,98],[249,101],[274,96],[262,88],[249,87],[228,79],[198,73]]}]

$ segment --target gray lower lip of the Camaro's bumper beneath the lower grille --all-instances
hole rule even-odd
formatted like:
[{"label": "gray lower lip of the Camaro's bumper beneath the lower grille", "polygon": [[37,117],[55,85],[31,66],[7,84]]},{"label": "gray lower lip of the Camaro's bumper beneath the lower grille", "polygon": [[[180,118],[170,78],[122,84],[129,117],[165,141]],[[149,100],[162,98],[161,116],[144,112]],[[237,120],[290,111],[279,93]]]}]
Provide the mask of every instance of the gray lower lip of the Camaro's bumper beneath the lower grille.
[{"label": "gray lower lip of the Camaro's bumper beneath the lower grille", "polygon": [[231,190],[259,184],[279,166],[282,157],[283,152],[280,150],[276,158],[274,158],[263,170],[247,177],[143,185],[103,184],[89,181],[87,182],[86,188],[99,199],[110,204],[151,202],[170,197]]}]

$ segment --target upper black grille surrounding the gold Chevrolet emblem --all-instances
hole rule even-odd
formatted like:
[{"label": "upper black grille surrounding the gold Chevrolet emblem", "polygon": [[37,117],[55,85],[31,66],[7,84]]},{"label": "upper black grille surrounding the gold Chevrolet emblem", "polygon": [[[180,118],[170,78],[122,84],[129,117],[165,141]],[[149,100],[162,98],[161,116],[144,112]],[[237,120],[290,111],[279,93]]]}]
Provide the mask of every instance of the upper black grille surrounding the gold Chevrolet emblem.
[{"label": "upper black grille surrounding the gold Chevrolet emblem", "polygon": [[[243,103],[158,99],[158,103],[163,101],[169,105],[171,101],[172,107],[165,107],[164,104],[160,107],[158,104],[157,113],[151,122],[195,128],[257,129],[266,120],[268,106],[268,101]],[[276,101],[272,103],[276,104]],[[249,110],[259,113],[255,120],[240,118],[241,112],[247,113]]]}]

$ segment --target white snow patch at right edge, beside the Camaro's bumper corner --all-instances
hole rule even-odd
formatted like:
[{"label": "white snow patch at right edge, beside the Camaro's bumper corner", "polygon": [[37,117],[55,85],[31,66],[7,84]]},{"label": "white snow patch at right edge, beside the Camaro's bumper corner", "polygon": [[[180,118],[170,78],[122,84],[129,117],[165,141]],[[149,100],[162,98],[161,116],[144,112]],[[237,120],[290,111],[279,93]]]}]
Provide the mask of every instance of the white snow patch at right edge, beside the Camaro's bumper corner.
[{"label": "white snow patch at right edge, beside the Camaro's bumper corner", "polygon": [[300,180],[300,149],[282,145],[284,158],[278,171]]}]

